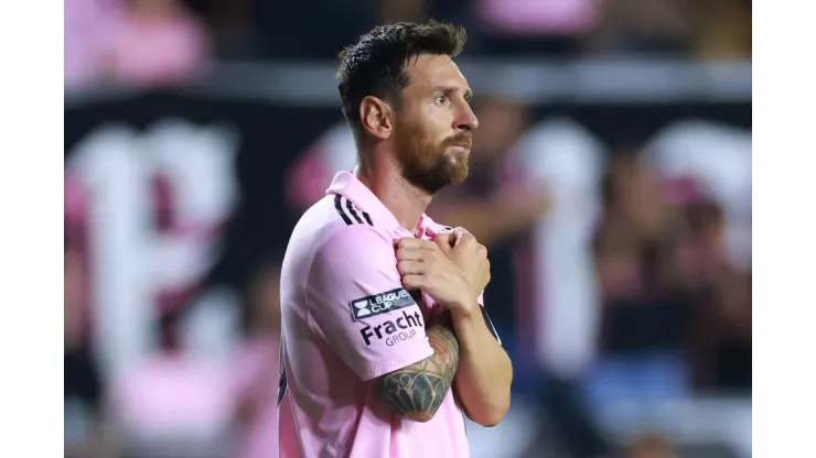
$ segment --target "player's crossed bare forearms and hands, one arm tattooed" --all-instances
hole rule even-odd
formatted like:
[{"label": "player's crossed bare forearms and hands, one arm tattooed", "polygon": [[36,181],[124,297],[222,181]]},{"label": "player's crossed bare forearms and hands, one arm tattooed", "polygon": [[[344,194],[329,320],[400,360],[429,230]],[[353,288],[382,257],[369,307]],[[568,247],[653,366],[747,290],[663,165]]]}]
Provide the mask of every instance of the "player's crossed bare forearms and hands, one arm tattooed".
[{"label": "player's crossed bare forearms and hands, one arm tattooed", "polygon": [[[441,232],[434,241],[400,239],[397,260],[402,284],[421,288],[434,299],[439,310],[451,316],[452,326],[439,327],[442,324],[434,321],[436,326],[429,327],[434,355],[416,367],[388,374],[385,397],[398,412],[427,421],[442,403],[457,374],[457,394],[471,419],[485,426],[497,424],[509,407],[512,367],[477,303],[490,281],[485,248],[472,235],[457,230]],[[442,358],[444,355],[447,359]],[[429,360],[433,363],[427,363]]]}]

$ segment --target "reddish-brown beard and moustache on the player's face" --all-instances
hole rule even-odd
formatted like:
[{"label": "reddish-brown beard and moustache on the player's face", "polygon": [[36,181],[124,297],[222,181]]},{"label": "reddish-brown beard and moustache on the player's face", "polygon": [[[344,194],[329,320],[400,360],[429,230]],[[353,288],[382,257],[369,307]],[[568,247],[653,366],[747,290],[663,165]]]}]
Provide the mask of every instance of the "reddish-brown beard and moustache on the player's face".
[{"label": "reddish-brown beard and moustache on the player's face", "polygon": [[468,177],[470,153],[463,154],[459,150],[449,152],[448,148],[465,146],[470,151],[470,132],[432,142],[418,126],[405,124],[396,130],[395,143],[402,177],[428,194],[437,194],[445,186],[460,184]]}]

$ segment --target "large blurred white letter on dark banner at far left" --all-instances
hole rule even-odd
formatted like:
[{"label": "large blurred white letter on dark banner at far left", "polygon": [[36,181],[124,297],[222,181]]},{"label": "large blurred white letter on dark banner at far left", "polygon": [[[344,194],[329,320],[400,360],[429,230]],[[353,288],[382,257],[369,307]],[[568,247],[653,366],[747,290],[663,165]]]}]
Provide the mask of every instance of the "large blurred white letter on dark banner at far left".
[{"label": "large blurred white letter on dark banner at far left", "polygon": [[83,189],[92,336],[106,372],[148,355],[160,298],[183,295],[217,261],[238,199],[236,153],[229,129],[164,120],[147,132],[99,128],[68,155],[66,181]]}]

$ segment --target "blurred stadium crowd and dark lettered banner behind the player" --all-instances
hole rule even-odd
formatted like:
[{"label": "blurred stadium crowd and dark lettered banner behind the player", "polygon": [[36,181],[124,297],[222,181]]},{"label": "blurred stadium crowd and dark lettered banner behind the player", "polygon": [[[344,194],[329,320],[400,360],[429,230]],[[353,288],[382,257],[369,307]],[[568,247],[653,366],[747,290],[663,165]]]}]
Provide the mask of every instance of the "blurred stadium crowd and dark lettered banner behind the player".
[{"label": "blurred stadium crowd and dark lettered banner behind the player", "polygon": [[751,456],[750,0],[65,0],[65,450],[275,458],[278,269],[354,166],[335,55],[468,28],[515,363],[474,457]]}]

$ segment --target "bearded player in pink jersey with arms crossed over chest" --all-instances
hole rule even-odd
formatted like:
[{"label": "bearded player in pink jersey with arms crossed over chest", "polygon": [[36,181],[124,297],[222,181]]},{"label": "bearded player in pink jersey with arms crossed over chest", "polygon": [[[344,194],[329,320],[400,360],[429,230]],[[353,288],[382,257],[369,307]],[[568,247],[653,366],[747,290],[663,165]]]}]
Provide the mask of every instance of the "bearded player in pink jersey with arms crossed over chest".
[{"label": "bearded player in pink jersey with arms crossed over chest", "polygon": [[[481,304],[486,251],[423,214],[479,126],[450,24],[377,26],[337,72],[358,164],[305,211],[281,271],[281,458],[469,457],[512,366]],[[512,205],[512,203],[508,203]]]}]

